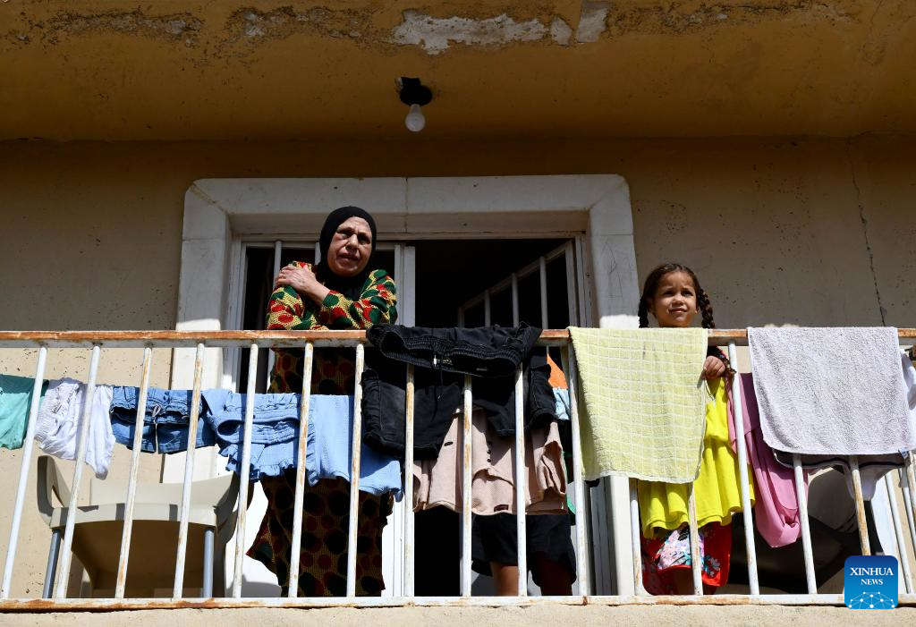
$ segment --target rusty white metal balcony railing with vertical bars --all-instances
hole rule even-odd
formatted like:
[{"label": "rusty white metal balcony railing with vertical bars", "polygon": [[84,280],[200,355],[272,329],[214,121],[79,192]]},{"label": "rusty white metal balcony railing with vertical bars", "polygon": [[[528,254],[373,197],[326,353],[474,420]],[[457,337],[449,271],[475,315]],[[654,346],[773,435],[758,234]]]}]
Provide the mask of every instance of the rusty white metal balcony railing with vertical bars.
[{"label": "rusty white metal balcony railing with vertical bars", "polygon": [[[709,334],[710,344],[717,346],[727,346],[731,361],[736,362],[736,346],[747,344],[747,333],[744,330],[713,330]],[[916,340],[916,330],[900,330],[900,343],[911,344]],[[819,594],[817,592],[817,583],[814,578],[814,566],[812,558],[812,541],[811,531],[808,526],[807,517],[807,498],[803,489],[803,470],[799,459],[794,459],[794,474],[797,489],[797,496],[800,506],[800,517],[802,522],[802,546],[804,555],[803,568],[806,573],[807,594],[775,594],[761,595],[759,592],[758,572],[756,562],[756,548],[754,543],[754,530],[752,525],[752,516],[745,516],[745,543],[747,547],[747,576],[749,581],[749,595],[720,594],[720,595],[703,595],[702,573],[699,559],[698,529],[696,524],[695,501],[692,491],[690,492],[689,520],[691,526],[691,552],[692,552],[692,579],[693,594],[686,596],[650,596],[642,587],[641,558],[639,550],[639,513],[636,494],[636,482],[630,481],[630,500],[627,511],[611,512],[610,515],[616,521],[628,521],[630,525],[630,536],[633,543],[632,570],[628,572],[617,572],[617,578],[631,578],[636,590],[635,595],[598,595],[593,594],[591,584],[591,572],[587,546],[587,530],[585,525],[588,524],[590,516],[586,515],[584,487],[583,487],[583,469],[582,469],[582,448],[580,439],[579,412],[576,397],[577,369],[572,350],[569,334],[565,330],[545,330],[540,337],[541,346],[559,346],[562,353],[562,368],[567,375],[569,384],[570,405],[572,410],[571,427],[573,431],[573,490],[574,501],[580,513],[577,516],[576,524],[576,568],[579,576],[580,594],[571,597],[552,597],[551,600],[559,603],[582,604],[582,603],[604,603],[604,604],[656,604],[656,603],[708,603],[708,604],[731,604],[731,603],[772,603],[772,604],[842,604],[842,595],[836,594]],[[360,452],[362,441],[362,408],[360,403],[361,385],[359,379],[362,374],[364,359],[365,332],[364,331],[60,331],[60,332],[40,332],[40,331],[4,331],[0,332],[0,348],[35,348],[38,347],[38,359],[35,369],[35,384],[33,396],[29,407],[28,425],[26,444],[23,448],[22,466],[19,474],[19,481],[16,489],[16,500],[13,510],[12,526],[9,535],[9,544],[7,546],[4,575],[2,587],[0,587],[0,611],[2,610],[29,610],[29,609],[48,609],[48,608],[87,608],[87,609],[129,609],[129,608],[171,608],[171,607],[280,607],[280,606],[333,606],[339,604],[347,605],[366,605],[366,606],[396,606],[396,605],[442,605],[442,604],[465,604],[465,605],[511,605],[523,604],[530,602],[526,600],[527,596],[527,568],[526,568],[526,535],[525,535],[525,451],[523,438],[524,425],[524,404],[523,379],[521,369],[518,370],[516,379],[516,448],[515,448],[515,468],[516,468],[516,505],[517,505],[517,531],[518,531],[518,595],[515,597],[472,597],[471,596],[471,459],[472,459],[472,407],[473,396],[470,386],[470,377],[465,378],[463,391],[463,456],[462,456],[462,481],[463,481],[463,503],[462,503],[462,563],[461,563],[461,595],[456,598],[417,598],[413,596],[414,592],[414,546],[413,546],[413,485],[411,481],[411,469],[413,465],[413,425],[414,425],[414,371],[412,367],[407,367],[407,403],[405,411],[405,424],[407,427],[406,436],[406,455],[405,471],[408,481],[405,481],[405,496],[408,499],[408,506],[405,511],[405,542],[400,547],[403,551],[403,568],[404,568],[404,595],[390,598],[357,598],[355,596],[355,557],[356,557],[356,523],[358,508],[356,506],[358,499],[358,483],[360,468]],[[140,376],[139,397],[136,412],[136,430],[134,435],[134,447],[131,457],[131,466],[129,471],[129,480],[125,494],[125,516],[124,527],[121,538],[121,550],[117,567],[116,588],[113,599],[67,599],[66,592],[69,585],[69,573],[71,564],[71,547],[74,535],[74,526],[76,522],[75,515],[66,515],[66,524],[63,535],[63,551],[60,561],[60,580],[53,599],[51,600],[29,600],[29,599],[10,599],[10,589],[12,584],[13,568],[16,562],[16,551],[22,523],[22,513],[25,506],[25,495],[28,483],[28,473],[31,467],[32,441],[35,436],[36,422],[38,416],[38,402],[40,395],[40,386],[44,377],[46,362],[49,348],[85,348],[91,351],[91,360],[88,376],[88,385],[86,390],[86,399],[82,415],[80,430],[82,434],[81,446],[77,451],[77,459],[73,471],[72,492],[67,503],[66,512],[68,514],[77,512],[80,496],[80,484],[82,477],[82,467],[86,459],[87,441],[86,438],[90,423],[89,411],[92,405],[92,396],[95,390],[99,363],[101,360],[102,348],[142,348],[143,349],[143,367]],[[199,429],[201,393],[202,393],[202,376],[204,351],[206,348],[249,348],[251,366],[248,368],[247,380],[247,398],[245,405],[245,427],[243,431],[242,459],[239,468],[241,484],[243,488],[238,494],[238,515],[236,517],[236,544],[234,546],[234,579],[231,589],[231,598],[229,599],[187,599],[183,597],[183,578],[185,560],[187,557],[188,546],[188,528],[191,508],[191,488],[194,470],[194,446],[189,446],[185,473],[183,481],[183,492],[180,507],[180,531],[178,551],[175,560],[175,577],[174,587],[171,599],[138,599],[125,600],[125,583],[128,568],[128,558],[130,556],[130,546],[132,542],[133,522],[136,509],[136,485],[137,470],[140,459],[140,440],[143,431],[143,422],[146,413],[146,399],[149,388],[150,372],[152,367],[152,349],[153,348],[191,348],[196,349],[193,376],[193,392],[191,395],[191,419],[189,424],[188,442],[193,443],[197,440],[197,431]],[[247,490],[245,486],[249,479],[249,462],[250,447],[252,438],[252,427],[254,418],[254,389],[257,353],[261,349],[282,347],[282,348],[301,348],[304,349],[304,376],[302,399],[300,405],[300,434],[299,434],[299,463],[296,469],[296,490],[295,506],[293,519],[293,546],[300,546],[302,534],[302,503],[305,494],[305,447],[306,438],[309,428],[309,403],[310,403],[310,384],[311,368],[313,362],[314,349],[316,347],[338,347],[341,350],[353,350],[356,362],[356,386],[354,389],[354,431],[353,431],[353,458],[351,466],[351,493],[350,493],[350,513],[348,528],[348,556],[347,556],[347,585],[346,598],[300,598],[298,597],[298,579],[299,579],[299,560],[290,560],[289,573],[289,598],[269,598],[269,599],[242,599],[242,561],[245,555],[245,527],[247,524],[245,509],[247,503]],[[733,384],[732,394],[735,399],[739,398],[737,387],[737,378]],[[738,457],[738,466],[740,469],[740,489],[741,498],[744,505],[744,511],[750,512],[750,497],[747,476],[747,449],[744,438],[744,421],[742,416],[741,403],[736,400],[734,405],[735,428],[736,428],[736,449]],[[906,467],[900,470],[901,492],[904,499],[904,510],[909,527],[909,539],[911,542],[910,550],[916,550],[916,527],[913,525],[916,518],[914,510],[913,496],[916,494],[916,477],[914,477],[912,456],[906,459]],[[865,504],[863,501],[861,480],[857,467],[857,460],[850,459],[850,467],[855,485],[856,501],[856,518],[860,537],[860,544],[863,555],[870,553],[868,546],[867,523],[865,516]],[[900,595],[900,602],[905,604],[916,603],[916,594],[914,594],[913,581],[909,568],[909,552],[905,542],[904,527],[900,519],[900,513],[897,510],[898,502],[896,493],[891,479],[888,474],[885,477],[885,485],[889,492],[890,519],[894,527],[894,538],[897,544],[897,553],[900,556],[900,564],[906,587],[906,593]],[[204,587],[206,589],[206,586]]]}]

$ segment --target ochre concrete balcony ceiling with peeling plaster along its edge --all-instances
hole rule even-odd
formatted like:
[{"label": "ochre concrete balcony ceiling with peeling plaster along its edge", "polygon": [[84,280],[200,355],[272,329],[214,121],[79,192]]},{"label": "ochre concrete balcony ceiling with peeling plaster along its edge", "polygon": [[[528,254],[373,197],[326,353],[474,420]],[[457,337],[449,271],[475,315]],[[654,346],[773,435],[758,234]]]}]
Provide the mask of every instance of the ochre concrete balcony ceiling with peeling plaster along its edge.
[{"label": "ochre concrete balcony ceiling with peeling plaster along its edge", "polygon": [[3,0],[0,139],[916,132],[911,0]]}]

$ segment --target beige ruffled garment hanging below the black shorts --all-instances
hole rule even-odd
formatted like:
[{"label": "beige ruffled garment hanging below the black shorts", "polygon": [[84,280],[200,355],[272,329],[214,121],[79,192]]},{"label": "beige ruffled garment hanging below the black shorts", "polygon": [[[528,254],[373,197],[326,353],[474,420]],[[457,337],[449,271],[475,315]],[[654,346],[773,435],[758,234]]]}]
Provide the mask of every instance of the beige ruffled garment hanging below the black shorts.
[{"label": "beige ruffled garment hanging below the black shorts", "polygon": [[[456,412],[438,459],[417,459],[413,467],[414,509],[461,510],[463,412]],[[500,438],[477,407],[471,417],[472,511],[478,515],[516,513],[515,438]],[[566,473],[556,421],[525,434],[525,503],[529,514],[566,513]]]}]

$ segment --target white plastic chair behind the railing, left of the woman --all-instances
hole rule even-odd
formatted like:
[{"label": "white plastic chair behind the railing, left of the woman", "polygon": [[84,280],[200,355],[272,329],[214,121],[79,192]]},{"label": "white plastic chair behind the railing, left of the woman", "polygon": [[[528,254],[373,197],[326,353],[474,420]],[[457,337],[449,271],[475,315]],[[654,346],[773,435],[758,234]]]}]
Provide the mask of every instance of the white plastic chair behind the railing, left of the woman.
[{"label": "white plastic chair behind the railing, left of the woman", "polygon": [[[217,580],[224,578],[224,548],[234,533],[238,485],[238,475],[233,474],[194,481],[191,489],[184,581],[187,588],[202,589],[205,598],[213,596],[214,570]],[[126,596],[153,597],[156,589],[171,590],[178,549],[181,493],[180,483],[137,483]],[[77,508],[73,554],[89,574],[93,596],[114,596],[126,494],[126,481],[93,479],[90,504]],[[54,459],[47,455],[39,457],[38,512],[51,530],[43,592],[46,599],[54,588],[70,495],[70,487]],[[60,505],[54,504],[54,496]],[[112,590],[109,595],[98,594],[109,589]],[[133,593],[127,594],[128,590]],[[222,586],[220,591],[222,596]]]}]

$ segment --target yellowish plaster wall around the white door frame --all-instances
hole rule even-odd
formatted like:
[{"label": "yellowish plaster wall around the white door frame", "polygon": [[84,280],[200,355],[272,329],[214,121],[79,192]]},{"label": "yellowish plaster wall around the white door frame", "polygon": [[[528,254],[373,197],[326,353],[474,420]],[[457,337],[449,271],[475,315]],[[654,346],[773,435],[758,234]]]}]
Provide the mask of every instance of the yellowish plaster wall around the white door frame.
[{"label": "yellowish plaster wall around the white door frame", "polygon": [[[720,327],[916,327],[916,138],[866,136],[0,143],[0,328],[174,327],[182,201],[196,178],[583,173],[627,178],[640,279],[663,260],[692,265]],[[154,384],[167,384],[168,354],[157,358]],[[33,360],[0,351],[0,371],[29,373]],[[138,364],[136,351],[111,351],[100,379],[134,384]],[[85,372],[84,355],[49,361],[51,376]],[[0,498],[15,490],[18,459],[0,451]],[[122,451],[121,476],[124,461]],[[152,461],[145,476],[155,479]],[[40,593],[48,537],[30,487],[14,596]]]}]

